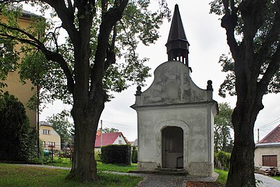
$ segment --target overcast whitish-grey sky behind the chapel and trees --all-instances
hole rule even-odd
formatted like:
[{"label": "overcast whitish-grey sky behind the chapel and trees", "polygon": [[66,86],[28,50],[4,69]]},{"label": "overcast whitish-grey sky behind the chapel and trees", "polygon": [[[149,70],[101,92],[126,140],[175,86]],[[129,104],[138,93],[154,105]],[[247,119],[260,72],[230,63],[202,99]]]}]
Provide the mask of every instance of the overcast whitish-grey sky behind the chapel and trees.
[{"label": "overcast whitish-grey sky behind the chapel and trees", "polygon": [[[221,54],[229,53],[225,39],[225,30],[221,28],[221,22],[216,15],[209,15],[209,2],[207,0],[191,1],[191,0],[167,0],[168,6],[174,11],[174,6],[178,3],[180,15],[183,20],[185,33],[189,41],[189,66],[192,67],[192,80],[202,89],[206,89],[207,80],[213,81],[214,100],[218,103],[227,102],[234,108],[236,103],[235,97],[227,96],[221,98],[218,96],[218,88],[225,78],[225,73],[221,72],[221,66],[218,59]],[[156,6],[155,6],[156,7]],[[137,49],[140,57],[148,57],[150,60],[147,66],[151,68],[150,73],[163,62],[167,61],[165,44],[169,33],[171,22],[165,20],[160,28],[160,39],[156,44],[150,46],[140,45]],[[147,78],[147,86],[142,87],[142,91],[146,90],[153,81],[153,76]],[[137,114],[130,108],[135,102],[136,85],[129,87],[121,94],[114,94],[115,98],[106,103],[101,120],[103,127],[114,127],[120,130],[129,141],[137,138]],[[260,128],[260,139],[262,139],[274,127],[280,124],[280,94],[269,94],[263,97],[263,105],[265,108],[260,112],[255,129]],[[62,109],[70,109],[71,107],[55,102],[54,105],[48,105],[41,114],[40,121],[46,119]],[[274,121],[274,122],[273,122]],[[270,123],[272,122],[272,123]],[[265,125],[264,127],[262,127]],[[256,130],[255,140],[256,140]]]}]

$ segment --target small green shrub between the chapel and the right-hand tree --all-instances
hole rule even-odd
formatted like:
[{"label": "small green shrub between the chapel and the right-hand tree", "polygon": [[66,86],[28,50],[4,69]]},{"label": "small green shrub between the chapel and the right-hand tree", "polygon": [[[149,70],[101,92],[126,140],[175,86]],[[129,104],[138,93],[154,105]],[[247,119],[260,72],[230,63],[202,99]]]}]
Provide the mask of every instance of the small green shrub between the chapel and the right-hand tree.
[{"label": "small green shrub between the chapel and the right-hand tree", "polygon": [[218,151],[214,156],[215,168],[221,170],[229,170],[230,169],[230,153]]}]

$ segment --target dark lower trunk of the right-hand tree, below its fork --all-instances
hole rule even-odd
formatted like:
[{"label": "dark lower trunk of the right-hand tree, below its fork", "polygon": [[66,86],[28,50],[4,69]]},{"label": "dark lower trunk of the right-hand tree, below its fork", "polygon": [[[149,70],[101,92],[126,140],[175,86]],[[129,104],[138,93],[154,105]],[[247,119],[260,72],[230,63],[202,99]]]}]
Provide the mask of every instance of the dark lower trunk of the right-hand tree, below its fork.
[{"label": "dark lower trunk of the right-hand tree, below its fork", "polygon": [[[245,107],[245,106],[243,106]],[[251,115],[236,107],[232,115],[234,148],[230,158],[227,187],[255,186],[254,178],[254,121]]]}]

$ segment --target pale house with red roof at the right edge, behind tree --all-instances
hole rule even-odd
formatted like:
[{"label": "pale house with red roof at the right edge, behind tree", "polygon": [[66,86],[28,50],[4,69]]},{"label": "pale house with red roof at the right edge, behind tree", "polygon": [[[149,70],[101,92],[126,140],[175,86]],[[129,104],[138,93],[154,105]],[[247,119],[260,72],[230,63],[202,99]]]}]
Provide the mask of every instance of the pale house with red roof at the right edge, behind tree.
[{"label": "pale house with red roof at the right edge, behind tree", "polygon": [[280,169],[280,125],[256,144],[254,165],[274,166]]}]

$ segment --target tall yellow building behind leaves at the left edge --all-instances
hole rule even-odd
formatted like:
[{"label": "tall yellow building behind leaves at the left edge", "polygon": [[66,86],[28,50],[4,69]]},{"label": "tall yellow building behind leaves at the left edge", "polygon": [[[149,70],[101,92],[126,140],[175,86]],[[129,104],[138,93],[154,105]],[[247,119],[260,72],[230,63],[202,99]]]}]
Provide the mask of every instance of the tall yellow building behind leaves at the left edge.
[{"label": "tall yellow building behind leaves at the left edge", "polygon": [[[22,16],[18,19],[19,26],[22,28],[27,28],[32,23],[31,16],[37,16],[32,14],[31,12],[28,12],[26,10],[22,11]],[[7,18],[4,17],[0,12],[0,19],[3,22],[7,21]],[[0,47],[4,47],[3,44],[0,44]],[[14,48],[15,51],[20,51],[21,45],[17,44]],[[23,57],[22,53],[19,55],[20,58]],[[10,94],[14,95],[16,98],[18,98],[21,103],[24,104],[24,107],[26,108],[26,115],[29,118],[30,121],[30,127],[36,127],[37,126],[37,112],[32,111],[28,109],[27,103],[30,98],[36,94],[37,87],[35,87],[29,80],[26,80],[26,84],[22,84],[19,80],[19,69],[11,69],[8,73],[8,77],[5,81],[7,84],[7,87],[3,88],[3,91],[9,91]],[[32,89],[33,88],[33,89]]]}]

